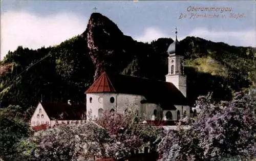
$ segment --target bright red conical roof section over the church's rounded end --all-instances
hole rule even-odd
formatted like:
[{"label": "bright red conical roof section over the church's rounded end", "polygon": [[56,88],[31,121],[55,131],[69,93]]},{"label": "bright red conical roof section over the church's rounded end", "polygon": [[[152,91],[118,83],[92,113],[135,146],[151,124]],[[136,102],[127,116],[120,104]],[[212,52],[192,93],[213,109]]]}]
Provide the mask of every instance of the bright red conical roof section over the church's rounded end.
[{"label": "bright red conical roof section over the church's rounded end", "polygon": [[109,76],[104,72],[95,82],[87,89],[86,93],[115,93],[116,90],[113,87]]}]

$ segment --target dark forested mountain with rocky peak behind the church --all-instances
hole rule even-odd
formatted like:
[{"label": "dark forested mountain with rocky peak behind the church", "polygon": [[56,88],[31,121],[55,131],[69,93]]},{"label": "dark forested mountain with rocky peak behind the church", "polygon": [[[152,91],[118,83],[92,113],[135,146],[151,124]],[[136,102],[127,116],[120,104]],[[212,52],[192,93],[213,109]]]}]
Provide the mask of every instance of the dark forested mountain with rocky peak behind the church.
[{"label": "dark forested mountain with rocky peak behind the church", "polygon": [[[165,80],[171,38],[137,42],[100,13],[87,29],[59,45],[37,50],[18,47],[0,62],[0,103],[26,110],[43,102],[85,103],[84,91],[102,71]],[[213,91],[215,101],[256,82],[256,50],[199,37],[180,41],[185,53],[187,96],[194,102]]]}]

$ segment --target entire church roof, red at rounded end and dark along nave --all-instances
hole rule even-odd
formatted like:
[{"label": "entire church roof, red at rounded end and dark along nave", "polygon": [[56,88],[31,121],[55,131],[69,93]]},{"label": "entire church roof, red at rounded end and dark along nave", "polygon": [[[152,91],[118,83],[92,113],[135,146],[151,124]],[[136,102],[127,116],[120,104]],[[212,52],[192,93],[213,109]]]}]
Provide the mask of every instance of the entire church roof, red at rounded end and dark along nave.
[{"label": "entire church roof, red at rounded end and dark along nave", "polygon": [[[164,106],[169,104],[188,105],[187,99],[173,83],[106,72],[103,72],[88,88],[86,94],[89,93],[141,95],[148,102]],[[169,109],[167,106],[166,108]]]}]

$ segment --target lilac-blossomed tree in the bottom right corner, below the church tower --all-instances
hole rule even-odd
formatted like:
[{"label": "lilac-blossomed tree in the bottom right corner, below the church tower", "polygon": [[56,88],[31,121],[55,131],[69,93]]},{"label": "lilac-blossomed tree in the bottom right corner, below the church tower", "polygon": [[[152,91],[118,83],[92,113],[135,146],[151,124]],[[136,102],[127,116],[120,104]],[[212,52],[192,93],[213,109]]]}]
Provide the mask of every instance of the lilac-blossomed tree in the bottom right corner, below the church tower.
[{"label": "lilac-blossomed tree in the bottom right corner, below the church tower", "polygon": [[174,160],[221,160],[256,156],[256,120],[251,94],[235,93],[230,102],[210,103],[199,97],[198,119],[190,130],[171,131],[159,145],[163,158]]}]

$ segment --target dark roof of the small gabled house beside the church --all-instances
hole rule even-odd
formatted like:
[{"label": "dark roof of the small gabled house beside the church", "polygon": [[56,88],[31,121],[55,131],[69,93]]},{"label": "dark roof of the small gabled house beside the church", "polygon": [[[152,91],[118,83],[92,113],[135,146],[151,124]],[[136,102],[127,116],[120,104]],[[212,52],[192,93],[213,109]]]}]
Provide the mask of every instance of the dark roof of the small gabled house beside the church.
[{"label": "dark roof of the small gabled house beside the church", "polygon": [[81,120],[86,115],[86,105],[83,104],[56,104],[40,102],[50,120]]}]

